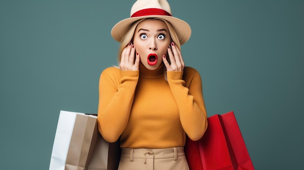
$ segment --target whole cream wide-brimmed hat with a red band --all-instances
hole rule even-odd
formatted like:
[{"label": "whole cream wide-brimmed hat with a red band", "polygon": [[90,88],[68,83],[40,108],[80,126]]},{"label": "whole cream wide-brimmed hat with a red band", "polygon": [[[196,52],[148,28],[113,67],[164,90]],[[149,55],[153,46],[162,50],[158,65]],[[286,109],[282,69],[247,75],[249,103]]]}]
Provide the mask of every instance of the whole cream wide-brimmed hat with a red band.
[{"label": "whole cream wide-brimmed hat with a red band", "polygon": [[112,28],[112,37],[120,42],[133,22],[148,17],[163,18],[169,21],[181,45],[189,40],[191,36],[189,24],[171,15],[170,5],[167,0],[137,0],[132,6],[130,18],[121,20]]}]

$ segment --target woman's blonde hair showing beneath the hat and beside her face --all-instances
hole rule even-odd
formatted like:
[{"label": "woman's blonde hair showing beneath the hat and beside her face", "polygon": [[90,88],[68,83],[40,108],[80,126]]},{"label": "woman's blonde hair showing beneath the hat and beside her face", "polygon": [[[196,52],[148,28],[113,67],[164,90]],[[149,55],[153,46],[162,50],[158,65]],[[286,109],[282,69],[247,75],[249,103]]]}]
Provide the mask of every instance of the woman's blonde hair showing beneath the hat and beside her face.
[{"label": "woman's blonde hair showing beneath the hat and beside her face", "polygon": [[[135,29],[137,27],[137,25],[146,20],[146,19],[159,19],[159,20],[162,20],[163,22],[165,22],[165,24],[167,25],[168,29],[169,29],[169,33],[170,33],[170,37],[171,37],[171,40],[172,42],[174,42],[175,46],[178,47],[178,49],[181,50],[181,45],[180,45],[180,41],[177,37],[177,34],[176,32],[174,31],[174,28],[172,27],[172,25],[165,19],[163,18],[143,18],[143,19],[139,19],[137,21],[135,21],[129,31],[127,31],[127,33],[125,34],[125,36],[122,38],[121,42],[120,42],[120,46],[119,46],[119,49],[118,49],[118,56],[117,56],[117,63],[119,65],[120,63],[120,60],[121,60],[121,53],[123,51],[123,49],[130,43],[133,41],[133,37],[134,37],[134,32],[135,32]],[[135,55],[135,54],[134,54]],[[166,56],[167,60],[169,61],[169,56]],[[169,62],[170,63],[170,62]]]}]

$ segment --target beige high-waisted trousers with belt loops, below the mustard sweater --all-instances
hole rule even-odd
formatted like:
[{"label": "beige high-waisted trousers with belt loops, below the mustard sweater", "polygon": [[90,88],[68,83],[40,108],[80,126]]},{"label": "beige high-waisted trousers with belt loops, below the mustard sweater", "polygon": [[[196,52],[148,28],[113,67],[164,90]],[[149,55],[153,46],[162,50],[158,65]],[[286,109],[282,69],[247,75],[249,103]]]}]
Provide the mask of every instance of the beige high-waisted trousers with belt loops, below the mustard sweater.
[{"label": "beige high-waisted trousers with belt loops, below the mustard sweater", "polygon": [[118,170],[189,170],[184,147],[166,149],[121,148]]}]

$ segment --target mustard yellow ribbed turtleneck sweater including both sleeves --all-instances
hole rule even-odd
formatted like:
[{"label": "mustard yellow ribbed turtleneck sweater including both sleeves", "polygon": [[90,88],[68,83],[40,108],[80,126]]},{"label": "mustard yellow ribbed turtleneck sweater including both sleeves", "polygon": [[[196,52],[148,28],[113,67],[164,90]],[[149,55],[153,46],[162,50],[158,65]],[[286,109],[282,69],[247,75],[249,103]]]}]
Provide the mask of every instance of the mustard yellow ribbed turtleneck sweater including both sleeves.
[{"label": "mustard yellow ribbed turtleneck sweater including both sleeves", "polygon": [[121,71],[109,67],[101,73],[98,124],[103,138],[122,148],[184,146],[186,134],[202,138],[207,128],[200,74],[184,71]]}]

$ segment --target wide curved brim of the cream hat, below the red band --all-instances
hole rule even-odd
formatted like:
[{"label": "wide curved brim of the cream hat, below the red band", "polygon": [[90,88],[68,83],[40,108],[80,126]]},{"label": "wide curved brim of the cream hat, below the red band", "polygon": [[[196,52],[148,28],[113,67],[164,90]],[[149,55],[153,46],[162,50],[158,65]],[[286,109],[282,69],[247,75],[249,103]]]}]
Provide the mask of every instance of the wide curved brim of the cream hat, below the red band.
[{"label": "wide curved brim of the cream hat, below the red band", "polygon": [[181,45],[185,44],[191,36],[191,28],[189,24],[186,23],[185,21],[173,16],[149,15],[149,16],[131,17],[121,20],[112,28],[111,31],[112,37],[116,41],[121,42],[122,38],[129,30],[131,24],[142,18],[163,18],[167,20],[172,25],[174,31],[176,32]]}]

